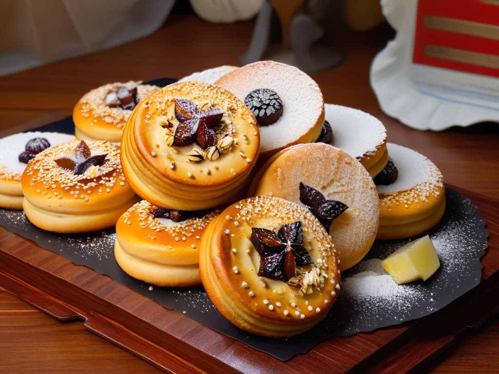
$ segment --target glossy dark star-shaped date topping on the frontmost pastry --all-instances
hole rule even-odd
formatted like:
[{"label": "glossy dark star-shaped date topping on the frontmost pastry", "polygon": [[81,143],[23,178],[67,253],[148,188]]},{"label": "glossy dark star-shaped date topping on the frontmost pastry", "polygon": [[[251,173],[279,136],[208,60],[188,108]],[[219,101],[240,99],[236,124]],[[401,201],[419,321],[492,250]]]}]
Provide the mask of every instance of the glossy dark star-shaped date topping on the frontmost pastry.
[{"label": "glossy dark star-shaped date topping on the frontmost pastry", "polygon": [[303,242],[302,223],[287,223],[275,233],[253,227],[250,241],[260,255],[258,275],[287,282],[295,276],[295,267],[313,264]]}]

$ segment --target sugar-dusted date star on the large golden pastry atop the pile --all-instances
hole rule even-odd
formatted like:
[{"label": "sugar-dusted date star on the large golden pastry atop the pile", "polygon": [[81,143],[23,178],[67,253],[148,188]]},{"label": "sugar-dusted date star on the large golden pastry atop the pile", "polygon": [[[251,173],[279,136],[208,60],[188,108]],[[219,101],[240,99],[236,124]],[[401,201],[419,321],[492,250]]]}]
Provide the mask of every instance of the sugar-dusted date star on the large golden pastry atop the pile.
[{"label": "sugar-dusted date star on the large golden pastry atop the pile", "polygon": [[204,150],[214,146],[217,140],[215,127],[223,115],[218,108],[202,110],[192,101],[175,99],[175,117],[180,123],[175,129],[173,145],[179,147],[196,142]]}]

